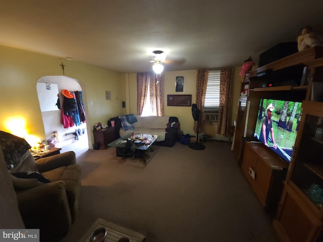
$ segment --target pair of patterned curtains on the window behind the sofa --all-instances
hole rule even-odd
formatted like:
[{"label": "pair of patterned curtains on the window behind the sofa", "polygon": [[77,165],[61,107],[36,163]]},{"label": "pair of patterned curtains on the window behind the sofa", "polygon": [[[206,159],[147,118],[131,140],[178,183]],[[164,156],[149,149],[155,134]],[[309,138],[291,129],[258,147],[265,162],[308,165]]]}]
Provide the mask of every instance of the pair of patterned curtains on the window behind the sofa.
[{"label": "pair of patterned curtains on the window behind the sofa", "polygon": [[164,76],[153,73],[137,73],[138,115],[142,114],[147,99],[148,84],[150,111],[157,116],[164,116]]}]

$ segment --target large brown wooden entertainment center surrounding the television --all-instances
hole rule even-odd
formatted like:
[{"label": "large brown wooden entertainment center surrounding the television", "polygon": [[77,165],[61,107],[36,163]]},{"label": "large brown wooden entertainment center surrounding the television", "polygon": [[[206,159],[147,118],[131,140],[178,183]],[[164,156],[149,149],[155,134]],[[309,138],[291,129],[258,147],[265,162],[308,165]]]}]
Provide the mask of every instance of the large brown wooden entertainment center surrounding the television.
[{"label": "large brown wooden entertainment center surrounding the television", "polygon": [[[295,67],[306,68],[305,82],[288,83],[277,78]],[[267,87],[265,76],[272,77],[275,85]],[[250,90],[248,96],[239,98],[233,154],[260,204],[271,212],[281,241],[323,241],[323,46],[250,71],[241,90],[245,84]],[[255,142],[262,98],[302,102],[290,163]]]}]

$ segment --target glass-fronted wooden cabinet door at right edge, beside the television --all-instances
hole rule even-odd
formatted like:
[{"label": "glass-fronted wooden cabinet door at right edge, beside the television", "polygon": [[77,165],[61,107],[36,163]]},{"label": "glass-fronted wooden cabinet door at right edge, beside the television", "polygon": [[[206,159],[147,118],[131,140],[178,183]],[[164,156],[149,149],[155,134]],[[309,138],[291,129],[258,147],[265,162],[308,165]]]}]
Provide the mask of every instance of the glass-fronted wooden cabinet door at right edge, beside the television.
[{"label": "glass-fronted wooden cabinet door at right edge, beside the television", "polygon": [[295,143],[291,186],[314,213],[323,216],[323,103],[303,102],[302,122]]}]

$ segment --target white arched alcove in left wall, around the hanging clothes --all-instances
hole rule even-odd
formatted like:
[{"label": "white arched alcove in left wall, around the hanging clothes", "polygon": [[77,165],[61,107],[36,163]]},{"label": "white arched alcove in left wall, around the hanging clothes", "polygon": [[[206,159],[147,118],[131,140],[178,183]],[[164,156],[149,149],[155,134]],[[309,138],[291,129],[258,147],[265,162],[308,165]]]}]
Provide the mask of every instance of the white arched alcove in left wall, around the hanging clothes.
[{"label": "white arched alcove in left wall, around the hanging clothes", "polygon": [[[63,104],[63,89],[79,91],[84,94],[78,80],[66,76],[45,76],[37,81],[36,88],[46,140],[55,138],[53,134],[57,132],[56,139],[59,141],[57,146],[62,148],[62,152],[73,150],[78,154],[89,149],[86,122],[78,126],[74,124],[73,127],[64,128],[61,122],[62,111],[56,105],[58,97],[60,97],[61,106]],[[86,117],[86,107],[84,107],[84,110]],[[76,131],[80,131],[81,135],[76,136]]]}]

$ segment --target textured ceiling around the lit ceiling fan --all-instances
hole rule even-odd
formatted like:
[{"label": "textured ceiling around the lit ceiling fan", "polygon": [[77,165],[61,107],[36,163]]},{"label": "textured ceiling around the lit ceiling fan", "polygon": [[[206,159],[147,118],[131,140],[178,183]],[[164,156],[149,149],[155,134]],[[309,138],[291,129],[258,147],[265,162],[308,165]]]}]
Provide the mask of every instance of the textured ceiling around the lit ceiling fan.
[{"label": "textured ceiling around the lit ceiling fan", "polygon": [[152,71],[153,50],[166,71],[257,62],[304,25],[323,33],[322,0],[0,0],[0,45],[126,73]]}]

